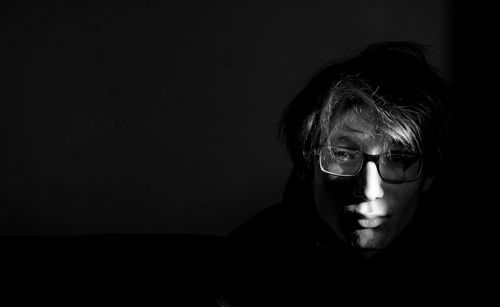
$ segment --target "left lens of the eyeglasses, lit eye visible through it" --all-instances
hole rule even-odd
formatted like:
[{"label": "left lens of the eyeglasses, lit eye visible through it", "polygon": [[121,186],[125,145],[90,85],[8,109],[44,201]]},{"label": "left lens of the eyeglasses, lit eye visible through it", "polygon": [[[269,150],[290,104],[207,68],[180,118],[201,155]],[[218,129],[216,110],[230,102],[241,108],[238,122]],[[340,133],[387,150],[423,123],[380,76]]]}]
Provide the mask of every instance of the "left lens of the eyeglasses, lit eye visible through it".
[{"label": "left lens of the eyeglasses, lit eye visible through it", "polygon": [[342,147],[324,147],[320,152],[321,170],[338,176],[354,176],[363,164],[361,152]]}]

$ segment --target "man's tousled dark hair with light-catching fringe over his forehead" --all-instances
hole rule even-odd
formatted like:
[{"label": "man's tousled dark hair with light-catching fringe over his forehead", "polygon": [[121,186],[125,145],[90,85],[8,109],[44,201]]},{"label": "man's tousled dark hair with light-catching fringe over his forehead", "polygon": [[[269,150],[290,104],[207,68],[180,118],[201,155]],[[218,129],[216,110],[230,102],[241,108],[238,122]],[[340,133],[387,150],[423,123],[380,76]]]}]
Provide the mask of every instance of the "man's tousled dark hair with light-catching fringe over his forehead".
[{"label": "man's tousled dark hair with light-catching fringe over his forehead", "polygon": [[414,42],[381,42],[317,72],[285,109],[280,136],[294,167],[306,175],[339,112],[376,124],[394,142],[424,155],[425,174],[443,159],[447,82]]}]

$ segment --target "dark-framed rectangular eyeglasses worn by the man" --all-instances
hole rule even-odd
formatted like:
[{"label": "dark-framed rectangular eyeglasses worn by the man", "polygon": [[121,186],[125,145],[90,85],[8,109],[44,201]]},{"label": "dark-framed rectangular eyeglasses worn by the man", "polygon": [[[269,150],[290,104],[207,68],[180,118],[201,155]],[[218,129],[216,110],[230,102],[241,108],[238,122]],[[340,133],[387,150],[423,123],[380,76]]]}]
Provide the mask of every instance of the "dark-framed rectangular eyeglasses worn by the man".
[{"label": "dark-framed rectangular eyeglasses worn by the man", "polygon": [[422,173],[423,160],[418,153],[389,151],[381,155],[369,155],[339,146],[325,146],[319,151],[321,170],[336,176],[356,176],[370,161],[377,166],[380,178],[387,182],[415,181]]}]

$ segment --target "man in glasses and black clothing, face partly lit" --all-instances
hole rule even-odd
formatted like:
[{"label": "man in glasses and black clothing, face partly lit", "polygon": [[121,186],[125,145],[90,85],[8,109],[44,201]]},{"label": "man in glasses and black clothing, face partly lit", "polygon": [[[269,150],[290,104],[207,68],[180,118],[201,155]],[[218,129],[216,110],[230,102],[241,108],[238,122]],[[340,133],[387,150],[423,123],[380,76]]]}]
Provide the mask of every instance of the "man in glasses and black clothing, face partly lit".
[{"label": "man in glasses and black clothing, face partly lit", "polygon": [[228,236],[224,304],[445,297],[447,207],[432,188],[447,100],[410,42],[368,46],[312,77],[282,118],[294,165],[283,201]]}]

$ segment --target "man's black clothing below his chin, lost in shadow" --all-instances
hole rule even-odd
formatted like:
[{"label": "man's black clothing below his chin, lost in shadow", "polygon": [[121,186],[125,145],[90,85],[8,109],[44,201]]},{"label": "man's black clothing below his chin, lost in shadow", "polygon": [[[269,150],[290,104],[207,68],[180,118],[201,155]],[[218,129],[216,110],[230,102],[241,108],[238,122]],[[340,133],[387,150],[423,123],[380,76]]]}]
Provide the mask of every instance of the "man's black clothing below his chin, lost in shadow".
[{"label": "man's black clothing below his chin, lost in shadow", "polygon": [[404,306],[456,299],[460,264],[448,238],[435,232],[438,223],[417,214],[388,248],[363,259],[320,220],[308,191],[289,183],[283,202],[228,236],[223,297],[229,306],[331,306],[345,299]]}]

